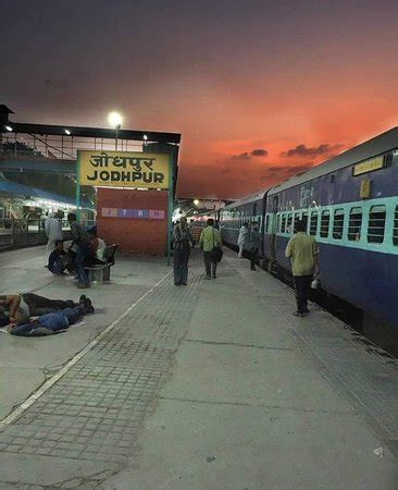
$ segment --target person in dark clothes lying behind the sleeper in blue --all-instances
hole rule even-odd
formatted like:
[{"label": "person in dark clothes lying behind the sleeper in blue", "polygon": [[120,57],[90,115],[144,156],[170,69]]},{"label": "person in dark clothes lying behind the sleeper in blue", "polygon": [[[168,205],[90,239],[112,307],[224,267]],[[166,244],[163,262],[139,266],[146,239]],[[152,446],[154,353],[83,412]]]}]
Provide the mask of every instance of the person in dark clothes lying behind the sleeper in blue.
[{"label": "person in dark clothes lying behind the sleeper in blue", "polygon": [[[80,296],[79,303],[82,299],[86,299],[84,294]],[[1,322],[4,323],[8,321],[5,324],[15,322],[17,310],[22,310],[26,316],[33,317],[53,313],[59,309],[74,308],[79,303],[75,303],[72,299],[49,299],[48,297],[34,293],[0,295],[2,317],[5,317]]]}]

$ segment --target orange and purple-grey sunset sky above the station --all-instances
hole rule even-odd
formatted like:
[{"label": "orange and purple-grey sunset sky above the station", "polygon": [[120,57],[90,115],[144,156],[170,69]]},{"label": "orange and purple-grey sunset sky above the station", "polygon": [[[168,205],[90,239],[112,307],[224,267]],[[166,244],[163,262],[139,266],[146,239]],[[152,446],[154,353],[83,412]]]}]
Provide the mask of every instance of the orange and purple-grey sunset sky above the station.
[{"label": "orange and purple-grey sunset sky above the station", "polygon": [[398,2],[14,0],[15,121],[181,132],[177,195],[235,198],[398,124]]}]

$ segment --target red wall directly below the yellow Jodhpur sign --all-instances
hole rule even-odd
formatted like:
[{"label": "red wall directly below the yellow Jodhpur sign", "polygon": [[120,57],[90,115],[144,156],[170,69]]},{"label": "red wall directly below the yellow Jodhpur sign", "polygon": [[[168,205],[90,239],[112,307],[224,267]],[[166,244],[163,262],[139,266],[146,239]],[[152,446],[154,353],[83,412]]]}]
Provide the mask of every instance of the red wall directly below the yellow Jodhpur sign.
[{"label": "red wall directly below the yellow Jodhpur sign", "polygon": [[[164,219],[103,217],[102,208],[163,210]],[[117,243],[120,250],[164,256],[167,242],[167,192],[98,188],[97,233],[108,245]]]}]

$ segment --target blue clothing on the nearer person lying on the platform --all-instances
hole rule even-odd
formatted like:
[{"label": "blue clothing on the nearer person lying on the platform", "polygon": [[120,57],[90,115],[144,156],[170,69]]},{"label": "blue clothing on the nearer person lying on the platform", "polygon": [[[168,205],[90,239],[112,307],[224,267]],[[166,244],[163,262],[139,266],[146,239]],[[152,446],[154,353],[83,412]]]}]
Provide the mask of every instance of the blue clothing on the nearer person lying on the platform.
[{"label": "blue clothing on the nearer person lying on the platform", "polygon": [[38,328],[46,328],[52,332],[58,330],[69,329],[71,324],[84,315],[80,306],[74,308],[60,309],[47,315],[41,315],[36,321],[29,321],[27,323],[20,323],[11,330],[12,335],[27,335],[33,330]]}]

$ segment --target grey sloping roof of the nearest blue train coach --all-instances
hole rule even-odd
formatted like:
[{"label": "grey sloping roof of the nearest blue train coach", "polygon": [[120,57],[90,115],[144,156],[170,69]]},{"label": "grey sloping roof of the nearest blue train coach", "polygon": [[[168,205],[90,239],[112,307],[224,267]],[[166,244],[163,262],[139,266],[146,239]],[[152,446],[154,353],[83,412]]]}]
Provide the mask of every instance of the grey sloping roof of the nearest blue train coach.
[{"label": "grey sloping roof of the nearest blue train coach", "polygon": [[271,187],[268,195],[276,194],[281,191],[311,181],[312,179],[316,179],[321,175],[335,172],[362,160],[385,154],[386,151],[395,148],[398,148],[398,127],[393,127],[391,130],[369,139],[368,142],[361,143],[360,145],[344,151],[337,157],[320,163],[313,169],[307,170],[299,175],[295,175],[287,181]]}]

